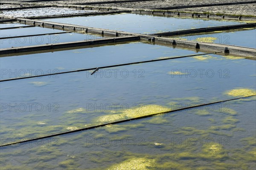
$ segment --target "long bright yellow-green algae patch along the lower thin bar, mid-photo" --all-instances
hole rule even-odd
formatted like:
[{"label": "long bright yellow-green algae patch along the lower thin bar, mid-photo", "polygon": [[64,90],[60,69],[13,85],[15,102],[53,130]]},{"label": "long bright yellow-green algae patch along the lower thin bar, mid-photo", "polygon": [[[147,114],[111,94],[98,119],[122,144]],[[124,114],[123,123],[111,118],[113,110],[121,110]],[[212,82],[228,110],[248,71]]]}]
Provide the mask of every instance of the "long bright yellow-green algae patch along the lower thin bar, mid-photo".
[{"label": "long bright yellow-green algae patch along the lower thin bar, mid-photo", "polygon": [[124,120],[128,118],[137,118],[141,116],[153,115],[162,112],[168,112],[171,109],[167,107],[162,107],[159,105],[146,105],[142,107],[137,107],[134,109],[126,109],[121,113],[114,113],[112,115],[104,115],[97,119],[98,122],[113,122]]}]

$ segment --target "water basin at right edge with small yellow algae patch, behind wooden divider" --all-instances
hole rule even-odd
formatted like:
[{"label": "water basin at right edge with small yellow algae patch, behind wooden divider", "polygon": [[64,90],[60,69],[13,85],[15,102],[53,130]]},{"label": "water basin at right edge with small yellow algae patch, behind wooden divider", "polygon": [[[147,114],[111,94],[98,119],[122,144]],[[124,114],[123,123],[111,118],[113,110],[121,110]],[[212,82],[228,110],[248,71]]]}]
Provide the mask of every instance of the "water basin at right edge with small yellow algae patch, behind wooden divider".
[{"label": "water basin at right edge with small yellow algae patch, behind wooden divider", "polygon": [[186,35],[178,38],[199,42],[221,43],[227,45],[256,48],[256,29],[240,29],[239,31],[221,32],[210,34]]}]

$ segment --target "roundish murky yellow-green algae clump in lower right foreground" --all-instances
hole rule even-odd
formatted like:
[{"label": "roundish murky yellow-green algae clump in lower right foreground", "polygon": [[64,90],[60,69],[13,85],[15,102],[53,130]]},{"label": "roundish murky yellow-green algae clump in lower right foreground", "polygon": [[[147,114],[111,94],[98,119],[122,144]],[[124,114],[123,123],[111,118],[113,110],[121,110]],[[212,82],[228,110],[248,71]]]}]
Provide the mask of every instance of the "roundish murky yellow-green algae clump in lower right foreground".
[{"label": "roundish murky yellow-green algae clump in lower right foreground", "polygon": [[228,158],[228,155],[224,150],[224,147],[217,143],[204,144],[202,146],[201,153],[199,153],[198,156],[204,159],[217,159],[217,160]]}]

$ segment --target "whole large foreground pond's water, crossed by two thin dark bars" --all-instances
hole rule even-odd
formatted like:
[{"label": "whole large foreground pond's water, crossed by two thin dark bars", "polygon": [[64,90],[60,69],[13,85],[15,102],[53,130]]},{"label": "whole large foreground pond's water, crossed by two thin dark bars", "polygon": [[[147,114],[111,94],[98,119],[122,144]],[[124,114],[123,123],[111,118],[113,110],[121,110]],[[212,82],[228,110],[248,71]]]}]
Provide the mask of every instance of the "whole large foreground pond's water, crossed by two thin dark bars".
[{"label": "whole large foreground pond's water, crossed by two thin dark bars", "polygon": [[[192,54],[137,41],[2,57],[0,75]],[[1,144],[255,94],[255,72],[255,60],[200,55],[0,82]],[[253,96],[0,147],[1,169],[255,169],[255,110]]]}]

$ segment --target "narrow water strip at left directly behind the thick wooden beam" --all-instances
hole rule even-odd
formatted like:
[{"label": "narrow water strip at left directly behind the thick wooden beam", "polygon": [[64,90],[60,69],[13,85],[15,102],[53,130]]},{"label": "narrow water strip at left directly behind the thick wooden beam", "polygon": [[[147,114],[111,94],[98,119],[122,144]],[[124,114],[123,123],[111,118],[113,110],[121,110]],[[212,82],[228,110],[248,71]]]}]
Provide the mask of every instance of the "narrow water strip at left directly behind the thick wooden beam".
[{"label": "narrow water strip at left directly behind the thick wooden beam", "polygon": [[71,41],[81,41],[81,40],[93,40],[104,38],[102,36],[85,34],[85,32],[68,32],[65,34],[54,34],[54,35],[40,35],[40,36],[28,36],[28,37],[18,37],[10,39],[0,40],[1,48],[11,48],[19,46],[33,46],[33,45],[44,45],[51,43],[64,43]]}]

